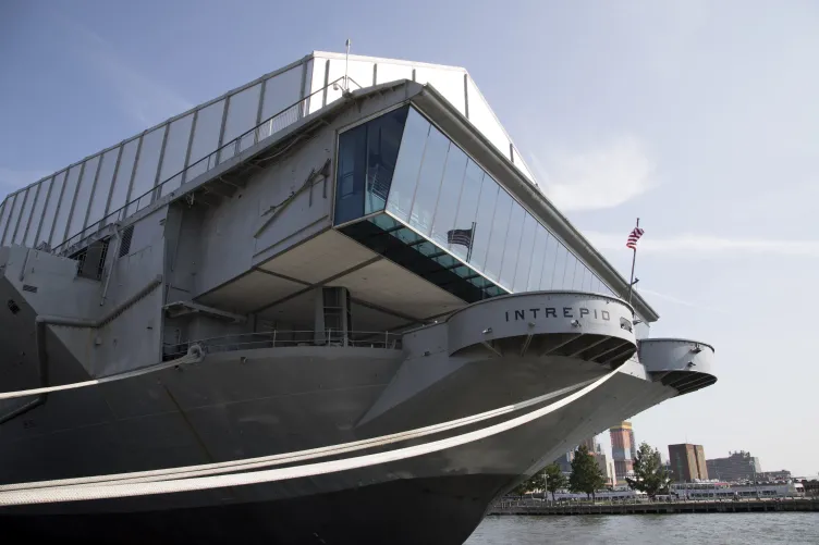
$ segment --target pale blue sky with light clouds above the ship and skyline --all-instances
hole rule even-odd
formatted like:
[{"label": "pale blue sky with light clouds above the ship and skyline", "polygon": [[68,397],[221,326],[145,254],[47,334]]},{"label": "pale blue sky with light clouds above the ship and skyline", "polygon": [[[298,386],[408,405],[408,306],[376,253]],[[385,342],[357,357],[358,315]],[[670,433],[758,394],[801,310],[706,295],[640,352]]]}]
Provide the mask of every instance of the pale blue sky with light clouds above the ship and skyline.
[{"label": "pale blue sky with light clouds above the ship and skyline", "polygon": [[[0,193],[313,50],[466,67],[545,194],[719,382],[637,441],[819,473],[819,4],[0,2]],[[814,278],[811,281],[811,278]],[[608,434],[601,436],[608,447]]]}]

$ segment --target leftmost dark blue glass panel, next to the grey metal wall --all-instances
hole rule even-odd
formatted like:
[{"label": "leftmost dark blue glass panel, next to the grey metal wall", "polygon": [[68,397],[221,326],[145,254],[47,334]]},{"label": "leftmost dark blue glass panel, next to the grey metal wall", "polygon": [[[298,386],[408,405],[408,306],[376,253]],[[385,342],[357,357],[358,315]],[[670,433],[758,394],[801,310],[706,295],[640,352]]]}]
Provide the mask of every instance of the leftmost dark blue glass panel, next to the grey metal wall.
[{"label": "leftmost dark blue glass panel, next to the grey metal wall", "polygon": [[364,215],[364,181],[367,168],[367,126],[359,125],[339,136],[335,186],[335,224]]}]

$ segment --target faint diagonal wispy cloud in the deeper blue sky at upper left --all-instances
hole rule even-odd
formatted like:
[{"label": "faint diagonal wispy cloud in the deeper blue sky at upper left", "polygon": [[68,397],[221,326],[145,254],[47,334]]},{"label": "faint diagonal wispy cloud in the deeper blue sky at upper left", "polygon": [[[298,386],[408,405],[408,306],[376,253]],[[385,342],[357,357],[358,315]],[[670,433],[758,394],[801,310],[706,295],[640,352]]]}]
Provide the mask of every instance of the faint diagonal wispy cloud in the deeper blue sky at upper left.
[{"label": "faint diagonal wispy cloud in the deeper blue sky at upper left", "polygon": [[114,47],[89,28],[52,13],[75,38],[76,52],[111,88],[122,110],[142,126],[149,126],[193,108],[193,103],[129,65]]}]

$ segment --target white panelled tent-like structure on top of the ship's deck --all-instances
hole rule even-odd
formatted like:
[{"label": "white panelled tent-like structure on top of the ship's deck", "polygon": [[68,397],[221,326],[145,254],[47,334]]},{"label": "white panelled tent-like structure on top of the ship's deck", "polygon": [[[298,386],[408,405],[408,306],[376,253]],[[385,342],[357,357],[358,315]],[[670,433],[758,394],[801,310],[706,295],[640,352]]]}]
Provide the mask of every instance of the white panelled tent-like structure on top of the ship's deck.
[{"label": "white panelled tent-like structure on top of the ship's deck", "polygon": [[[352,89],[398,79],[432,85],[534,181],[464,69],[314,52],[10,195],[0,202],[0,245],[46,243],[56,248],[75,244],[149,207],[301,114],[341,99],[343,86],[338,82],[345,74]],[[302,99],[305,102],[296,106]],[[257,131],[245,135],[256,126]],[[235,146],[220,149],[234,139],[239,139]]]}]

